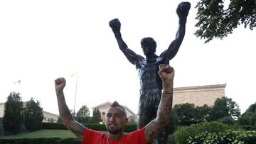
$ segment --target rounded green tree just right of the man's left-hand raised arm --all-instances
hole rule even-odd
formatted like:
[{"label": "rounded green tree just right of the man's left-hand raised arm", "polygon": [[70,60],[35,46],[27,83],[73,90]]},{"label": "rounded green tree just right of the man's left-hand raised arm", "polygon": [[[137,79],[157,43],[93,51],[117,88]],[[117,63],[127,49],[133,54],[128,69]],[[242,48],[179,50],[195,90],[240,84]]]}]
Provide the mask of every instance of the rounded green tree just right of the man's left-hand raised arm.
[{"label": "rounded green tree just right of the man's left-hand raised arm", "polygon": [[90,120],[90,110],[86,105],[82,106],[76,113],[75,120],[80,123],[87,123]]}]

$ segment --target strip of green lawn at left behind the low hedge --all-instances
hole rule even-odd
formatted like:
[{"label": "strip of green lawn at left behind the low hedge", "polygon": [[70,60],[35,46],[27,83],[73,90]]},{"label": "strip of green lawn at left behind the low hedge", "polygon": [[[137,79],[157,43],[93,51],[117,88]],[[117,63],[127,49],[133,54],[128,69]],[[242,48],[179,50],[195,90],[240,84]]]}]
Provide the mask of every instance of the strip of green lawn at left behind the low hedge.
[{"label": "strip of green lawn at left behind the low hedge", "polygon": [[75,138],[76,136],[68,130],[40,130],[17,135],[0,136],[0,138]]}]

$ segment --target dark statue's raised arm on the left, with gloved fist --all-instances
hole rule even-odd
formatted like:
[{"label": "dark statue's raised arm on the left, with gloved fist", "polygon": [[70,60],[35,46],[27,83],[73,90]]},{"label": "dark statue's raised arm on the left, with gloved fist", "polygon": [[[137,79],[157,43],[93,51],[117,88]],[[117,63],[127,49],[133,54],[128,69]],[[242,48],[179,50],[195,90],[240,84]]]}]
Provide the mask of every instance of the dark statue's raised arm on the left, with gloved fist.
[{"label": "dark statue's raised arm on the left, with gloved fist", "polygon": [[122,35],[120,32],[121,23],[117,18],[114,18],[110,21],[110,28],[112,28],[112,31],[114,33],[114,37],[117,39],[118,46],[120,50],[124,53],[125,57],[131,62],[133,65],[139,60],[139,55],[137,55],[134,51],[130,50],[127,47],[127,44],[124,43],[124,40],[122,39]]}]

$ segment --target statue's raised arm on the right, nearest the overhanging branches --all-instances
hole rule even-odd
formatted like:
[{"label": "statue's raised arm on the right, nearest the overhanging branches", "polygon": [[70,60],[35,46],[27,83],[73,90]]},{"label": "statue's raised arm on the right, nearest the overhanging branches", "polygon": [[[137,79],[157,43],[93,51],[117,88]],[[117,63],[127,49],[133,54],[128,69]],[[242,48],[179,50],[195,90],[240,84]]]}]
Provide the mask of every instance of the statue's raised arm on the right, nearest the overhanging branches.
[{"label": "statue's raised arm on the right, nearest the overhanging branches", "polygon": [[186,31],[186,19],[188,16],[188,11],[191,8],[191,4],[189,2],[181,2],[178,4],[176,9],[176,13],[178,15],[178,31],[176,33],[175,40],[169,45],[169,48],[161,53],[160,57],[165,58],[165,63],[169,64],[169,60],[175,57],[178,52],[178,48],[180,48],[182,40]]}]

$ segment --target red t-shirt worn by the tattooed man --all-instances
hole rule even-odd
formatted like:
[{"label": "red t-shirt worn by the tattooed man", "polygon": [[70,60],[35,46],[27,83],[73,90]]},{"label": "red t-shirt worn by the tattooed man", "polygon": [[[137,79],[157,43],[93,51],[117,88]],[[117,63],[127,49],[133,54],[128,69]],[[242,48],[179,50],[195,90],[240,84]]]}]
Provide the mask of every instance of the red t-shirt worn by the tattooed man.
[{"label": "red t-shirt worn by the tattooed man", "polygon": [[85,128],[83,144],[146,144],[144,128],[124,134],[119,140],[108,139],[107,134]]}]

